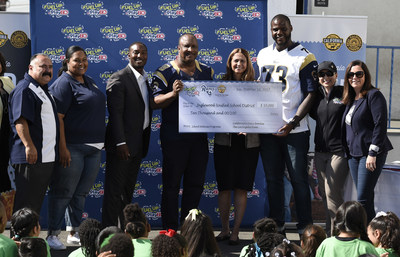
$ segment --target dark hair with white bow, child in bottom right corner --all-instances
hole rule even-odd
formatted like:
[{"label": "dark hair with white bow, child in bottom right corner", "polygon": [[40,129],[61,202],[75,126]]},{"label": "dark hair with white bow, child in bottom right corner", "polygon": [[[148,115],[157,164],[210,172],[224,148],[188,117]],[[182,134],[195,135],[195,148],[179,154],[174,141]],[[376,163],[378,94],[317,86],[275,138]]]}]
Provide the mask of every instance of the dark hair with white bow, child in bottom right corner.
[{"label": "dark hair with white bow, child in bottom right corner", "polygon": [[369,226],[373,230],[381,231],[379,242],[382,248],[392,248],[397,255],[400,255],[400,220],[396,214],[390,211],[378,213]]}]

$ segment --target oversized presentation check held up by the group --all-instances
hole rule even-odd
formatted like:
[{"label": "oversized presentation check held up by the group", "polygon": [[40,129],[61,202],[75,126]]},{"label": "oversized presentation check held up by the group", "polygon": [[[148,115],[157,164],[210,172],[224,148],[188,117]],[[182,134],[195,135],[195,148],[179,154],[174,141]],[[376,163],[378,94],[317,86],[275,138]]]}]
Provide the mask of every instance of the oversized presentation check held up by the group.
[{"label": "oversized presentation check held up by the group", "polygon": [[179,132],[275,133],[283,126],[282,84],[184,81]]}]

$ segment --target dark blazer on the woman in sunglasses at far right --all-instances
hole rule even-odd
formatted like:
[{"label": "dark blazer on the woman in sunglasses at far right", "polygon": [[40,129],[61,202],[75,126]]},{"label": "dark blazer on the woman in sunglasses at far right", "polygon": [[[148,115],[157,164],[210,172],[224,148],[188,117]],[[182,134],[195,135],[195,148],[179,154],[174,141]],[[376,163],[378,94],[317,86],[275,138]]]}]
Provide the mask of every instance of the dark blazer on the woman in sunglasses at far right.
[{"label": "dark blazer on the woman in sunglasses at far right", "polygon": [[351,127],[354,138],[352,144],[347,144],[346,115],[351,105],[346,106],[342,119],[342,140],[347,155],[353,153],[353,157],[376,156],[377,153],[369,151],[371,144],[379,147],[378,153],[393,149],[387,137],[387,109],[383,94],[377,89],[371,89],[367,95],[356,104],[353,112]]}]

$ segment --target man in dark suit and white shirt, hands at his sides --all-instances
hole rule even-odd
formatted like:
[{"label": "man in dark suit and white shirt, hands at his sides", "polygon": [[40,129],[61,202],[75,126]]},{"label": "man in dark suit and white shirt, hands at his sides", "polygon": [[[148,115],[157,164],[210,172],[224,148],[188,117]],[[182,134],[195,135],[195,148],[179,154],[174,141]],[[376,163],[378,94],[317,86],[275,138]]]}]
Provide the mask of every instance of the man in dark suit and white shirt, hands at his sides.
[{"label": "man in dark suit and white shirt, hands at his sides", "polygon": [[103,226],[124,226],[124,207],[132,201],[140,163],[150,139],[153,97],[144,66],[147,47],[135,42],[129,47],[129,64],[115,72],[107,83],[109,121],[106,131],[107,166],[104,186]]}]

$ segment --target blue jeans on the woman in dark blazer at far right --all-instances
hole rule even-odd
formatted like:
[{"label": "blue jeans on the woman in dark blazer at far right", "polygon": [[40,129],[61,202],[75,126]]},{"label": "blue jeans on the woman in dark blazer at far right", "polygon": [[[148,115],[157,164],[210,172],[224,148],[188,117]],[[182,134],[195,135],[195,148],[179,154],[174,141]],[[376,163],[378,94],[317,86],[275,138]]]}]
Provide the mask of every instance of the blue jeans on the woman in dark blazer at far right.
[{"label": "blue jeans on the woman in dark blazer at far right", "polygon": [[357,201],[364,206],[367,212],[367,224],[375,217],[374,188],[381,175],[386,156],[387,152],[376,156],[376,169],[374,171],[369,171],[365,167],[367,156],[349,159],[350,174],[357,189]]}]

